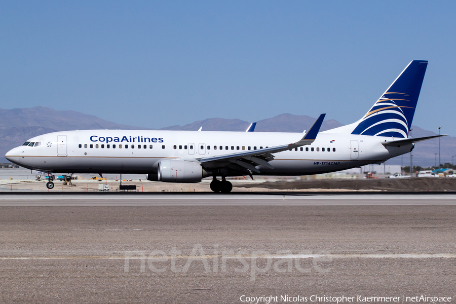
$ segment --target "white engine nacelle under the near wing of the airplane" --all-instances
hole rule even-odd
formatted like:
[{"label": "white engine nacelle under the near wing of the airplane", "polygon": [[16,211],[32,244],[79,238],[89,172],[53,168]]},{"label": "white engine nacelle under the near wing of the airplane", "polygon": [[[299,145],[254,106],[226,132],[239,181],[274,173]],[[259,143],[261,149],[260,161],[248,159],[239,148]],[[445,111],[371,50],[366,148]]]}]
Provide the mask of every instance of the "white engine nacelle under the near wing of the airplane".
[{"label": "white engine nacelle under the near wing of the airplane", "polygon": [[158,180],[166,182],[200,182],[203,168],[199,163],[164,160],[158,163]]}]

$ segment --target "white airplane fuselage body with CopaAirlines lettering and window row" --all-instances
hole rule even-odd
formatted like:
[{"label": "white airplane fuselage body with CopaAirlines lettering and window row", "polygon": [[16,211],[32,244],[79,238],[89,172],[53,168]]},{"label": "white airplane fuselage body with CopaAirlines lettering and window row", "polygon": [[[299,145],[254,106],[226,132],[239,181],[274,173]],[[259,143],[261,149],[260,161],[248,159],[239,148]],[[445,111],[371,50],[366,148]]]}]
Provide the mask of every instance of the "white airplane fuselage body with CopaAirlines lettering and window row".
[{"label": "white airplane fuselage body with CopaAirlines lettering and window row", "polygon": [[[408,153],[413,144],[385,147],[391,137],[325,131],[311,145],[274,153],[274,169],[260,175],[309,175],[383,162]],[[195,160],[298,141],[301,133],[82,130],[29,139],[6,157],[23,167],[59,173],[156,173],[164,159]],[[109,147],[108,147],[109,145]],[[126,145],[128,147],[126,147]],[[132,147],[133,146],[133,147]],[[255,173],[254,173],[255,174]]]}]

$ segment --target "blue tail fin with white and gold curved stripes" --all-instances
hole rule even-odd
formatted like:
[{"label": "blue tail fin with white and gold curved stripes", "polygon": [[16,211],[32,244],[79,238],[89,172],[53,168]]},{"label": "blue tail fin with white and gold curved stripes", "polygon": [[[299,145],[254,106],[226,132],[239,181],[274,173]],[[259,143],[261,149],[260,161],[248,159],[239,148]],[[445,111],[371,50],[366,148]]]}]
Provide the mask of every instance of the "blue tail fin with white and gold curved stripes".
[{"label": "blue tail fin with white and gold curved stripes", "polygon": [[410,62],[352,134],[407,138],[427,66],[425,60]]}]

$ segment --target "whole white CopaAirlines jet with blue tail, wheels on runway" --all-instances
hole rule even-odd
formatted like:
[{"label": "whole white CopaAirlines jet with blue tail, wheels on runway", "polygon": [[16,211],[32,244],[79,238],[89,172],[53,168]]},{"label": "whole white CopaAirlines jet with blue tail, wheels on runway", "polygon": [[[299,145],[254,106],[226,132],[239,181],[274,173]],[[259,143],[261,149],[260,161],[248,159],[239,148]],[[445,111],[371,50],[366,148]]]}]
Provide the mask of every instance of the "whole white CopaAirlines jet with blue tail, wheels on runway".
[{"label": "whole white CopaAirlines jet with blue tail, wheels on runway", "polygon": [[212,176],[212,191],[222,193],[233,188],[227,176],[309,175],[381,163],[409,153],[415,142],[438,137],[408,138],[427,64],[410,62],[359,121],[324,132],[319,132],[324,114],[303,134],[63,131],[30,138],[6,158],[45,172],[49,189],[57,172],[133,173],[163,182]]}]

